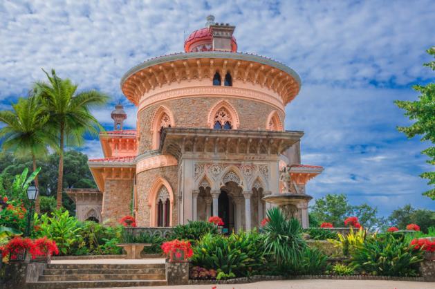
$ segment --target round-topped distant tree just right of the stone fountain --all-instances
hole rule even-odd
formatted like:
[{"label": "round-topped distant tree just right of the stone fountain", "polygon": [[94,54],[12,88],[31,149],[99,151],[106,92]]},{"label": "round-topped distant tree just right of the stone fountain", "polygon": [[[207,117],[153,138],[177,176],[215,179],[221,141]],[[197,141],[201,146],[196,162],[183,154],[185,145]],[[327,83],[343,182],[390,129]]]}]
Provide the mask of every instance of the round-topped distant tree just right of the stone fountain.
[{"label": "round-topped distant tree just right of the stone fountain", "polygon": [[333,223],[335,227],[344,227],[344,219],[357,216],[363,227],[373,228],[380,224],[376,216],[378,209],[367,204],[350,205],[344,194],[327,194],[318,198],[311,207],[311,220],[319,223]]}]

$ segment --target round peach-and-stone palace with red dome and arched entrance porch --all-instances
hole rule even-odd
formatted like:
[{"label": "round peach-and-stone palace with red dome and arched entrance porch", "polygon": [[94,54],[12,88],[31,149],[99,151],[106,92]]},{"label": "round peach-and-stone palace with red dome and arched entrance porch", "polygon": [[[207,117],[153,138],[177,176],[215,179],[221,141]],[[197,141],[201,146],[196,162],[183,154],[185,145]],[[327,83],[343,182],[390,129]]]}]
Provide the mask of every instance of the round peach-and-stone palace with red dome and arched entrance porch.
[{"label": "round peach-and-stone palace with red dome and arched entrance porch", "polygon": [[[263,197],[306,194],[322,167],[302,165],[302,131],[284,129],[299,75],[268,57],[237,52],[235,26],[207,17],[184,53],[131,68],[121,79],[138,107],[136,129],[115,106],[113,131],[100,133],[104,158],[89,160],[98,189],[69,189],[77,217],[139,227],[170,227],[221,216],[228,230],[259,226]],[[283,169],[285,168],[285,169]],[[280,182],[287,174],[290,185]],[[297,207],[308,226],[308,201]]]}]

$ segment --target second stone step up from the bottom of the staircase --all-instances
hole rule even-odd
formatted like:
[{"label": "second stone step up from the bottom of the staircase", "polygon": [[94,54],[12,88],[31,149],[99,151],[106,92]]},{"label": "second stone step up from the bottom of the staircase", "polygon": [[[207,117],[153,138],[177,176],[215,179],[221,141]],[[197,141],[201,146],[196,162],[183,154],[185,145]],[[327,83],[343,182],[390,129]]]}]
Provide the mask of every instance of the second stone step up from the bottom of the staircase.
[{"label": "second stone step up from the bottom of the staircase", "polygon": [[38,281],[109,281],[109,280],[165,280],[165,274],[73,274],[41,275]]}]

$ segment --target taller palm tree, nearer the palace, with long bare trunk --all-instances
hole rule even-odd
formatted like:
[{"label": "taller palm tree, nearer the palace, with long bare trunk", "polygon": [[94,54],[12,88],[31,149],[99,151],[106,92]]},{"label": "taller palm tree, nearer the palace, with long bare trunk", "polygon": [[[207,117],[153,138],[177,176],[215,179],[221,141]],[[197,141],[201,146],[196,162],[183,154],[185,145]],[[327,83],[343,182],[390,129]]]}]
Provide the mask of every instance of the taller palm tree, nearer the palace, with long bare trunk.
[{"label": "taller palm tree, nearer the palace, with long bare trunk", "polygon": [[[44,71],[44,69],[43,69]],[[77,85],[68,78],[62,80],[52,69],[51,75],[46,71],[48,82],[37,82],[35,91],[40,95],[50,115],[49,126],[58,136],[59,142],[59,177],[57,178],[57,209],[62,207],[64,180],[64,149],[66,145],[80,146],[84,134],[97,135],[103,130],[98,120],[93,117],[91,108],[106,104],[109,97],[98,91],[77,93]]]}]

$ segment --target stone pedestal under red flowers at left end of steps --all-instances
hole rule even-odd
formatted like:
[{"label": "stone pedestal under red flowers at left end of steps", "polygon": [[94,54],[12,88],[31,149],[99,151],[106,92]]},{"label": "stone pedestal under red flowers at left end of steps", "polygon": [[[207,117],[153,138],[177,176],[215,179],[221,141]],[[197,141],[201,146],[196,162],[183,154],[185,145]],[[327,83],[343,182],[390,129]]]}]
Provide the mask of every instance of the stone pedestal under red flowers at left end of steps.
[{"label": "stone pedestal under red flowers at left end of steps", "polygon": [[5,289],[26,288],[26,283],[38,281],[46,263],[10,263],[5,271]]}]

